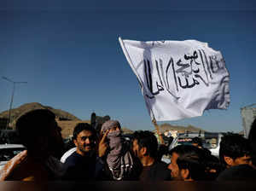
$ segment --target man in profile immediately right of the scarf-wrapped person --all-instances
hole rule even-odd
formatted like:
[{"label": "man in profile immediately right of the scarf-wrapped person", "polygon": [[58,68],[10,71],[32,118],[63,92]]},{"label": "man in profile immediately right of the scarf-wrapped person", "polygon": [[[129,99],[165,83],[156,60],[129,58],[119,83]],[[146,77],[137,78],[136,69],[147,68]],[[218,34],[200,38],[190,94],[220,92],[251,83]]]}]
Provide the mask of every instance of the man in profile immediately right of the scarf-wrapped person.
[{"label": "man in profile immediately right of the scarf-wrapped person", "polygon": [[154,133],[138,130],[133,134],[132,150],[143,165],[139,176],[140,181],[166,181],[171,179],[171,171],[167,164],[158,161],[158,142]]}]

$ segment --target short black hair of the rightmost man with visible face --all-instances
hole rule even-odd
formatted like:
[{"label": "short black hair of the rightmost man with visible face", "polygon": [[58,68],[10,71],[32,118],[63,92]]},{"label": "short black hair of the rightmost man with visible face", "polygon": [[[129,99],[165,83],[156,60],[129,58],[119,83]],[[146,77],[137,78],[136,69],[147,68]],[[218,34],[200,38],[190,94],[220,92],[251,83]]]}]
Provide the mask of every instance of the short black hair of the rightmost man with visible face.
[{"label": "short black hair of the rightmost man with visible face", "polygon": [[227,133],[221,138],[219,143],[219,160],[223,165],[227,165],[224,156],[236,159],[248,156],[251,153],[251,147],[248,140],[236,133]]}]

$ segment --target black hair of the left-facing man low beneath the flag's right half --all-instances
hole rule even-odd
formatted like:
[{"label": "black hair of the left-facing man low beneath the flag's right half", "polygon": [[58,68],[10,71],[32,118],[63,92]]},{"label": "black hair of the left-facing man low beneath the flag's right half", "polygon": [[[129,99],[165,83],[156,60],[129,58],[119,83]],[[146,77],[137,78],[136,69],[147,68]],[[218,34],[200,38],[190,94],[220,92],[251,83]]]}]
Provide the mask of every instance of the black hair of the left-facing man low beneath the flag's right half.
[{"label": "black hair of the left-facing man low beneath the flag's right half", "polygon": [[170,153],[177,153],[177,166],[189,170],[189,177],[195,181],[206,180],[205,153],[192,145],[178,145]]}]

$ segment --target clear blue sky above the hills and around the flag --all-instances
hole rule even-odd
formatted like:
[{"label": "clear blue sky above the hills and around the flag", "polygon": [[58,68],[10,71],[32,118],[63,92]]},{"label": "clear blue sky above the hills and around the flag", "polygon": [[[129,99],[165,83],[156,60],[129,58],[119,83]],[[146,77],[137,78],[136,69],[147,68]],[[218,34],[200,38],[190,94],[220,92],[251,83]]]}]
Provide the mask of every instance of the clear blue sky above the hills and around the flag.
[{"label": "clear blue sky above the hills and around the flag", "polygon": [[0,112],[39,102],[90,119],[109,115],[131,130],[154,130],[118,38],[207,42],[230,72],[230,107],[158,122],[241,131],[240,108],[256,102],[255,1],[35,1],[0,3]]}]

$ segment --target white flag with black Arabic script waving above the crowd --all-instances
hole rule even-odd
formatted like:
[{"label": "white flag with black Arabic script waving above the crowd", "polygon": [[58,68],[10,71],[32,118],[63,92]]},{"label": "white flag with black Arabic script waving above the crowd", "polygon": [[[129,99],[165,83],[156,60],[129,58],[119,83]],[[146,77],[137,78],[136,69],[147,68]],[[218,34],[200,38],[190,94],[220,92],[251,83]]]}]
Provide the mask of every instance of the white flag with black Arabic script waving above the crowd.
[{"label": "white flag with black Arabic script waving above the crowd", "polygon": [[141,85],[151,119],[186,119],[229,106],[229,72],[220,51],[207,43],[121,38],[119,43]]}]

